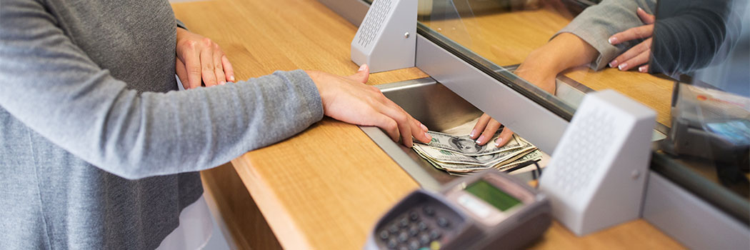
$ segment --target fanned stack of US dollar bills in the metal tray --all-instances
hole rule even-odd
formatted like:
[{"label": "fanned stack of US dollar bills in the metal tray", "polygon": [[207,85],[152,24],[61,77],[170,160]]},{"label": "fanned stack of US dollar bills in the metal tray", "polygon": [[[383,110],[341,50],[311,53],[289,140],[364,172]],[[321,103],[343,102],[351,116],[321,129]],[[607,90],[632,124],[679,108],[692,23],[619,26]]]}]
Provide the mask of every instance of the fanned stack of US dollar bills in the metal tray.
[{"label": "fanned stack of US dollar bills in the metal tray", "polygon": [[463,176],[490,168],[507,170],[524,161],[541,160],[541,152],[516,135],[498,148],[493,142],[499,134],[484,146],[477,145],[469,136],[434,131],[428,131],[428,134],[432,136],[430,143],[415,143],[414,151],[438,169],[453,175]]}]

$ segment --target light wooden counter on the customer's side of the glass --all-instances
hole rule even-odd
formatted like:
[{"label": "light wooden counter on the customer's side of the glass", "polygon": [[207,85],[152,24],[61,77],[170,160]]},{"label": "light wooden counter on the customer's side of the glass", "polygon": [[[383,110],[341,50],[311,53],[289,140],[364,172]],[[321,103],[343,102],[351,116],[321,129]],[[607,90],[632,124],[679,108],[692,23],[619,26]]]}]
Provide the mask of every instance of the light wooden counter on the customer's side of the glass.
[{"label": "light wooden counter on the customer's side of the glass", "polygon": [[[216,0],[173,8],[191,31],[223,47],[239,80],[296,68],[356,71],[349,57],[356,27],[318,2]],[[373,74],[369,84],[421,77],[410,68]],[[229,238],[245,249],[362,248],[377,218],[418,187],[359,128],[332,119],[202,176]],[[681,248],[643,220],[582,238],[554,224],[536,244]]]}]

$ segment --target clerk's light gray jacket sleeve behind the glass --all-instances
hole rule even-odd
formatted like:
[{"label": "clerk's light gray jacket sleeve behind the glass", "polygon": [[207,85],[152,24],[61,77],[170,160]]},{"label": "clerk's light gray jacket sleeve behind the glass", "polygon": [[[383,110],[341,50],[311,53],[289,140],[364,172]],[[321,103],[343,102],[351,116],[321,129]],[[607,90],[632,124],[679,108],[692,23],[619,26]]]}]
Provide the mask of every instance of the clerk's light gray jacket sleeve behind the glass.
[{"label": "clerk's light gray jacket sleeve behind the glass", "polygon": [[[642,26],[637,8],[640,7],[648,14],[654,14],[656,8],[655,0],[604,0],[598,5],[593,5],[583,10],[577,17],[557,32],[571,33],[591,44],[599,55],[591,62],[591,68],[600,70],[604,68],[620,53],[628,48],[639,44],[641,40],[629,41],[616,46],[607,41],[610,36],[627,29]],[[553,38],[554,38],[553,36]]]}]

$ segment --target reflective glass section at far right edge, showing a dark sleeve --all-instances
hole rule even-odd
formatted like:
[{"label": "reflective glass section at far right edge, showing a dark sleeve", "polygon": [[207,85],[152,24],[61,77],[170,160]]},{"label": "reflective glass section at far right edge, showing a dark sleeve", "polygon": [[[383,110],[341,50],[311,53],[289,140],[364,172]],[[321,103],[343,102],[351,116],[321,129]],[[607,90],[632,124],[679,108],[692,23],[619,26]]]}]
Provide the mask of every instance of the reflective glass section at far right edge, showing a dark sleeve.
[{"label": "reflective glass section at far right edge, showing a dark sleeve", "polygon": [[661,149],[748,199],[750,17],[746,1],[661,0],[649,71],[681,78]]}]

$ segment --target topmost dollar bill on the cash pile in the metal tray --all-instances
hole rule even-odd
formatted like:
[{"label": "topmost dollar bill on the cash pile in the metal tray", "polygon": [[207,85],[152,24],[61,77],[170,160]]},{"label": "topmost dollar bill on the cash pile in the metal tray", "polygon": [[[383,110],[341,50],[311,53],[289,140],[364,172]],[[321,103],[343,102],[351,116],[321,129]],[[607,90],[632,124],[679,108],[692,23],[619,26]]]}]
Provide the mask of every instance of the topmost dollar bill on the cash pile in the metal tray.
[{"label": "topmost dollar bill on the cash pile in the metal tray", "polygon": [[498,152],[518,149],[523,146],[521,139],[519,139],[520,137],[517,137],[515,134],[513,135],[513,137],[511,137],[510,141],[508,141],[508,143],[505,143],[505,146],[502,147],[496,147],[493,143],[495,139],[499,137],[499,133],[495,134],[494,137],[488,140],[489,143],[484,144],[484,146],[478,145],[475,140],[473,140],[468,135],[457,136],[451,134],[443,134],[435,131],[428,131],[428,134],[432,136],[432,140],[430,141],[430,143],[423,144],[418,142],[419,144],[415,145],[427,145],[433,148],[443,149],[450,152],[458,152],[461,155],[467,156],[491,155]]}]

